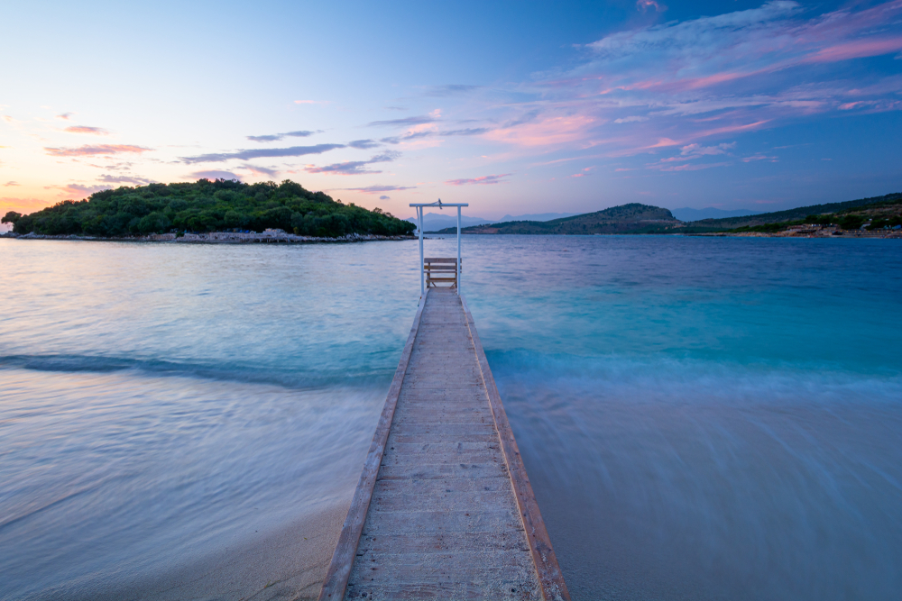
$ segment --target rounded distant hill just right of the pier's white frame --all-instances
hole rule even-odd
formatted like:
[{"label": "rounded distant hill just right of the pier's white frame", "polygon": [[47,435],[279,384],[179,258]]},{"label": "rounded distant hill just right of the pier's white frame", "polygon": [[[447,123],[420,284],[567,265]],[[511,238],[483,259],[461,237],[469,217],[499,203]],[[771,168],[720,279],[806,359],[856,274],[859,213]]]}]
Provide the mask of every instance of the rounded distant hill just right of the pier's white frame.
[{"label": "rounded distant hill just right of the pier's white frame", "polygon": [[[679,222],[667,209],[658,206],[630,205],[612,206],[610,209],[540,221],[513,221],[476,225],[464,229],[465,233],[526,233],[589,235],[595,233],[645,233],[663,232]],[[430,233],[456,233],[457,229],[446,228]]]}]

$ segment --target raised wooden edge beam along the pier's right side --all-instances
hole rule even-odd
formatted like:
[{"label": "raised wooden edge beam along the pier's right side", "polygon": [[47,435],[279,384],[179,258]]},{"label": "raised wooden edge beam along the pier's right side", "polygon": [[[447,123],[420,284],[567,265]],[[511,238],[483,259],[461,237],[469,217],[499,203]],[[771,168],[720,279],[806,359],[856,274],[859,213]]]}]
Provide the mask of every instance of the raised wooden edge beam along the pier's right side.
[{"label": "raised wooden edge beam along the pier's right side", "polygon": [[495,427],[502,442],[502,451],[507,460],[508,472],[517,496],[520,516],[523,519],[529,547],[532,550],[532,559],[536,564],[538,583],[542,587],[542,596],[546,601],[569,601],[570,593],[567,591],[564,576],[561,574],[560,566],[557,564],[557,556],[554,548],[551,546],[551,539],[545,528],[545,522],[542,520],[542,514],[538,511],[536,496],[532,492],[532,485],[529,484],[529,477],[520,457],[520,449],[517,446],[516,439],[514,439],[511,423],[508,422],[507,414],[504,411],[504,405],[502,405],[502,397],[498,393],[498,387],[495,385],[492,370],[489,369],[489,361],[485,359],[483,343],[479,340],[479,334],[476,332],[473,314],[470,313],[470,308],[466,305],[463,296],[460,297],[460,300],[464,306],[466,324],[473,339],[479,367],[483,370],[483,382],[489,395],[489,404],[492,405]]}]

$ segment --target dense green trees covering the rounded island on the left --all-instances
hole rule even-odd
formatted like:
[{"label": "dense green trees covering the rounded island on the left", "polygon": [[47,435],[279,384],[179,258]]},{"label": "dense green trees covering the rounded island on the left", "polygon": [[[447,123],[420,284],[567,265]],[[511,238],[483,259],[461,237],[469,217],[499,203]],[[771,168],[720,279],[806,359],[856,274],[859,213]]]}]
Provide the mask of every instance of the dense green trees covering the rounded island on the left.
[{"label": "dense green trees covering the rounded island on the left", "polygon": [[307,236],[348,233],[410,234],[413,223],[380,209],[344,205],[288,179],[281,184],[243,184],[200,179],[195,183],[120,187],[66,200],[32,214],[10,211],[3,223],[16,233],[81,234],[119,238],[148,233],[262,232],[278,228]]}]

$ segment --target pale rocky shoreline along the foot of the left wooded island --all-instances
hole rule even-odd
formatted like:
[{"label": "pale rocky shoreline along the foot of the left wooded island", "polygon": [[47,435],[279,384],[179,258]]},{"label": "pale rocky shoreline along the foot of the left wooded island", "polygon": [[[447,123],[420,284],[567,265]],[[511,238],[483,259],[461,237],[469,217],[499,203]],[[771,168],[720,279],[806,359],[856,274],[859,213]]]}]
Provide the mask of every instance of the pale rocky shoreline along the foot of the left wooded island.
[{"label": "pale rocky shoreline along the foot of the left wooded island", "polygon": [[186,233],[177,236],[174,233],[152,233],[146,236],[131,236],[128,238],[102,238],[97,236],[79,236],[78,234],[48,235],[41,233],[18,234],[13,232],[0,233],[0,238],[13,240],[78,240],[78,241],[104,241],[104,242],[169,242],[174,244],[259,244],[259,243],[290,243],[290,244],[321,244],[339,242],[368,242],[389,240],[414,240],[413,236],[379,236],[373,233],[349,233],[337,238],[318,238],[316,236],[300,236],[287,232],[208,232]]}]

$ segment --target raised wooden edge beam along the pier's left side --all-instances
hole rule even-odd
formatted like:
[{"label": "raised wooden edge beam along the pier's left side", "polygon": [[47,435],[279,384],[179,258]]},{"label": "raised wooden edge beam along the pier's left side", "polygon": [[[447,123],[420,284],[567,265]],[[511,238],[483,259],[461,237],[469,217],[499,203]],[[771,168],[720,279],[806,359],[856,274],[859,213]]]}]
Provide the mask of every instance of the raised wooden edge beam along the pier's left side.
[{"label": "raised wooden edge beam along the pier's left side", "polygon": [[354,490],[354,498],[351,501],[350,508],[347,510],[345,524],[342,525],[341,533],[338,535],[336,551],[332,555],[332,561],[326,572],[326,580],[323,582],[323,588],[319,592],[319,601],[326,601],[327,599],[339,601],[345,596],[347,578],[351,575],[351,568],[354,565],[357,543],[360,541],[360,533],[364,528],[366,514],[370,508],[370,499],[373,497],[373,486],[376,483],[376,476],[382,463],[385,442],[388,440],[389,432],[391,431],[391,419],[394,416],[395,407],[398,405],[398,396],[400,395],[401,385],[404,382],[404,374],[407,373],[407,365],[413,352],[413,343],[417,340],[419,322],[423,316],[423,309],[426,307],[428,296],[429,291],[427,290],[426,294],[419,301],[419,308],[417,309],[417,315],[413,319],[410,335],[407,338],[407,343],[404,345],[404,350],[401,351],[398,369],[395,370],[394,378],[391,380],[389,394],[385,398],[385,405],[382,407],[379,423],[376,424],[376,432],[373,434],[370,451],[366,454],[364,470],[361,472],[357,488]]}]

